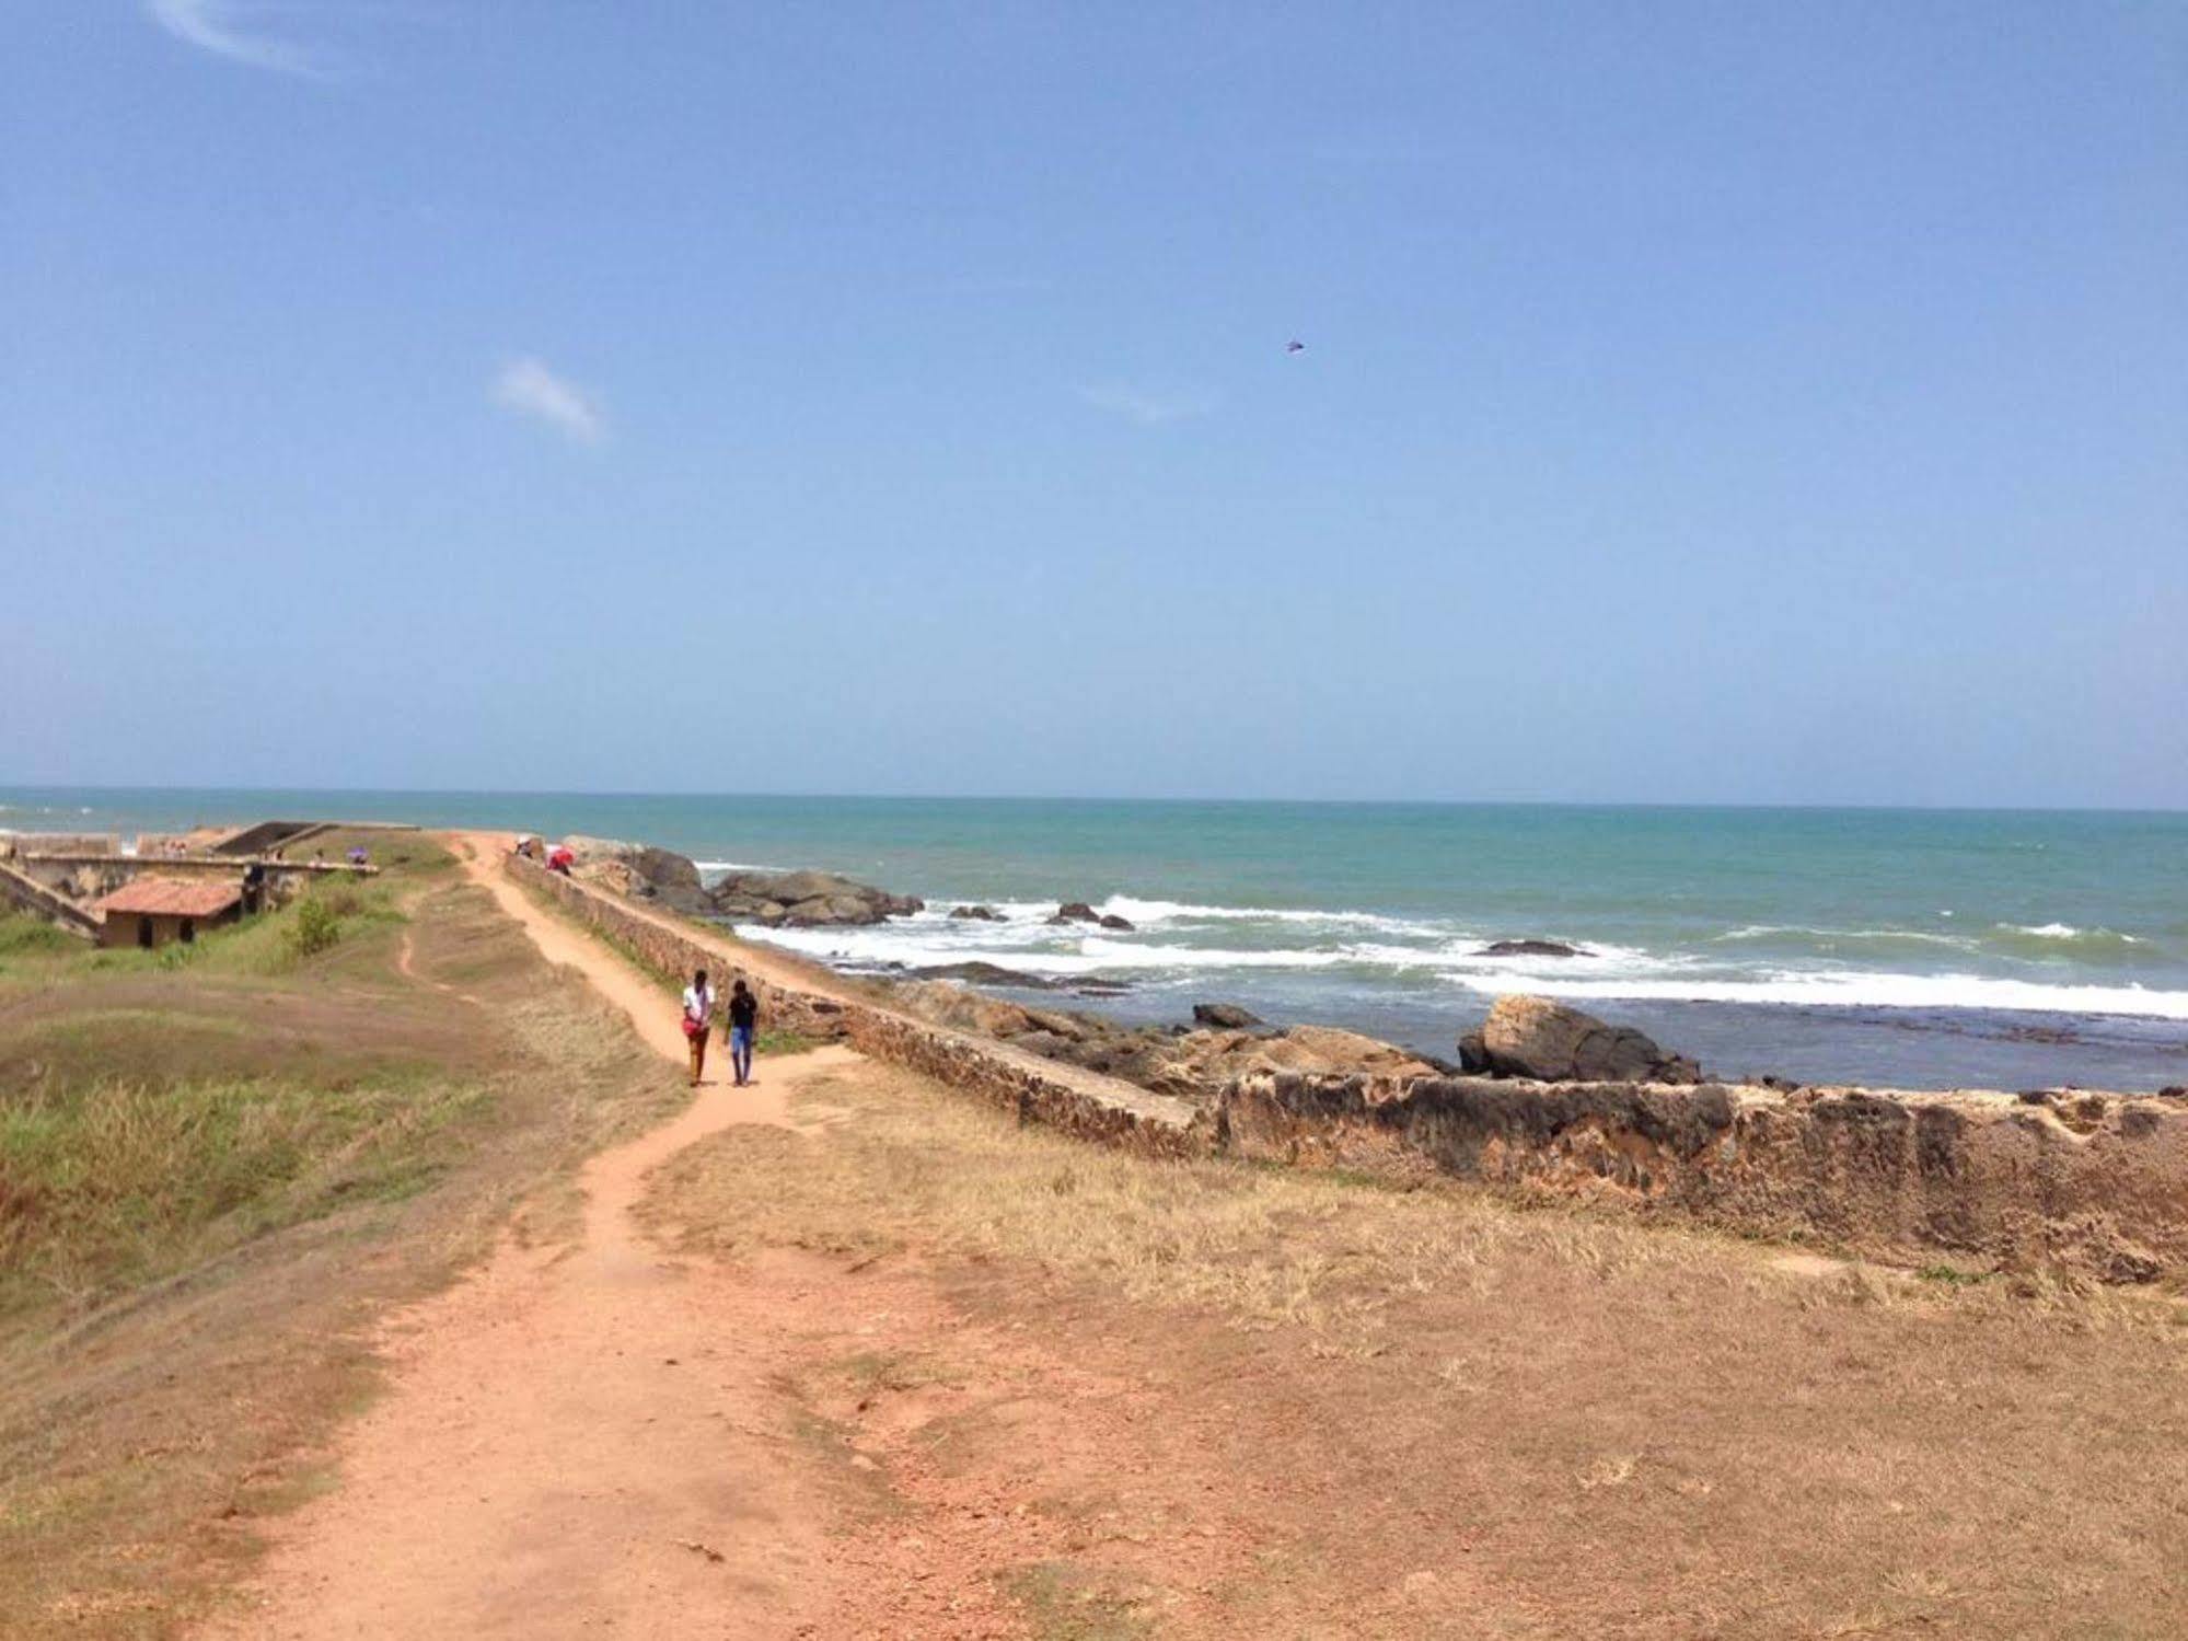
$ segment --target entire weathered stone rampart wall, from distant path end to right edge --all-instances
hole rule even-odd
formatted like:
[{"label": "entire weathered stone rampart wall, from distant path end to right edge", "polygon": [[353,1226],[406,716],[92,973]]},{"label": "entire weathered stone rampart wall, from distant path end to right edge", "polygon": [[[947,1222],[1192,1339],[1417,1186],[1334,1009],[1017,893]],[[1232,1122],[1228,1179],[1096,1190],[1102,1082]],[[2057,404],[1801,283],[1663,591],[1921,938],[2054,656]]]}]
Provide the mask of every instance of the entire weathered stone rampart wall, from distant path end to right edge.
[{"label": "entire weathered stone rampart wall, from distant path end to right edge", "polygon": [[[726,936],[516,856],[510,871],[665,978],[740,969]],[[1475,1182],[1906,1262],[1943,1252],[2114,1282],[2188,1278],[2184,1101],[1300,1072],[1184,1101],[915,1020],[880,989],[799,958],[768,952],[742,971],[777,1028],[1144,1155]]]}]

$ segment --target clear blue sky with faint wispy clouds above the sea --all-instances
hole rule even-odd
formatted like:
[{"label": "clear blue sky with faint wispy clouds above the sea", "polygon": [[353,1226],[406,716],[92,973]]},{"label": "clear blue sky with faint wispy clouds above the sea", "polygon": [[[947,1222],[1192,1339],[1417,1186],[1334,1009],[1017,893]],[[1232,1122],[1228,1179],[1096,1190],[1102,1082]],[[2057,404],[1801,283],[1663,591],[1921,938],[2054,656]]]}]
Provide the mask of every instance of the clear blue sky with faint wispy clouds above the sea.
[{"label": "clear blue sky with faint wispy clouds above the sea", "polygon": [[0,120],[0,781],[2188,805],[2181,4],[28,0]]}]

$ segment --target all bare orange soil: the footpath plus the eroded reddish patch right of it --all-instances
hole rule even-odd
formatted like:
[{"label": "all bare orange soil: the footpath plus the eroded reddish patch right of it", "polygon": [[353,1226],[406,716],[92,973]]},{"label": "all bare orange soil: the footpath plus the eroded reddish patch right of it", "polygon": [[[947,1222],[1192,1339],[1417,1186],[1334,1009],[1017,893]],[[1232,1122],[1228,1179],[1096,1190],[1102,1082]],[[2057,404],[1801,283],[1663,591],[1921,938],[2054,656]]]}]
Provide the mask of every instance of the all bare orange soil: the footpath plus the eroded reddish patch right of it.
[{"label": "all bare orange soil: the footpath plus the eroded reddish patch right of it", "polygon": [[[529,901],[490,849],[468,856],[540,952],[680,1074],[661,991]],[[337,1490],[274,1529],[241,1613],[210,1634],[1017,1637],[1046,1632],[1044,1604],[1083,1610],[1083,1591],[998,1569],[1039,1569],[1083,1534],[1035,1503],[1120,1462],[1142,1413],[1116,1405],[1114,1374],[1017,1328],[974,1339],[919,1269],[799,1252],[685,1260],[632,1219],[650,1171],[683,1149],[735,1125],[790,1127],[801,1085],[873,1072],[840,1048],[766,1059],[746,1090],[709,1068],[683,1116],[586,1164],[573,1247],[510,1238],[396,1315],[381,1339],[389,1394],[348,1429]],[[807,1127],[827,1120],[816,1105]],[[974,1370],[904,1383],[901,1363],[945,1341]],[[1072,1403],[1085,1403],[1072,1427],[1024,1418]],[[941,1466],[912,1438],[967,1407],[1009,1442]],[[1214,1490],[1182,1457],[1164,1459],[1171,1483]],[[1221,1538],[1197,1534],[1179,1569],[1212,1578]]]}]

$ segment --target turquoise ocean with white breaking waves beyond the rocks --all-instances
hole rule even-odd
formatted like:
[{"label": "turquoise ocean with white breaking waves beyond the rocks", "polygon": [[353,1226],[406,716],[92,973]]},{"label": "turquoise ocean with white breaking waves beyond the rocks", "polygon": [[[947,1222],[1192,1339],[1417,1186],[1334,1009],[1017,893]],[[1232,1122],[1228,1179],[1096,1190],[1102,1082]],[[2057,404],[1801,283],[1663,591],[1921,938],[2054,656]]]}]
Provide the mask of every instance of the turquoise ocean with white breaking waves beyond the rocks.
[{"label": "turquoise ocean with white breaking waves beyond the rocks", "polygon": [[[1538,991],[1720,1074],[2188,1083],[2188,814],[0,788],[4,829],[260,816],[842,871],[930,910],[766,939],[1122,982],[1072,1006],[1144,1022],[1223,1000],[1451,1057],[1492,998]],[[1061,899],[1133,928],[1052,928]],[[958,901],[1004,921],[952,921]],[[1486,956],[1499,939],[1584,956]]]}]

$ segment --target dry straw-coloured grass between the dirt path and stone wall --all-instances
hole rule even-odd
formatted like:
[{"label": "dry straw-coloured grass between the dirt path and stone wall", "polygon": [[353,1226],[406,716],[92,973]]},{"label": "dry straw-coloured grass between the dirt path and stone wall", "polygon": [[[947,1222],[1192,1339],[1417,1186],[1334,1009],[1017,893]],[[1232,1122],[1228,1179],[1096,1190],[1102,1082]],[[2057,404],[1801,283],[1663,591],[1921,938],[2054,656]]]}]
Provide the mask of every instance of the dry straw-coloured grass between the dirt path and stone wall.
[{"label": "dry straw-coloured grass between the dirt path and stone wall", "polygon": [[[2170,1637],[2188,1615],[2177,1302],[1144,1164],[884,1068],[794,1114],[805,1133],[672,1162],[654,1219],[731,1258],[904,1254],[976,1319],[1173,1374],[1164,1418],[1276,1545],[1238,1593],[1256,1632]],[[1394,1595],[1427,1569],[1442,1595]]]}]

